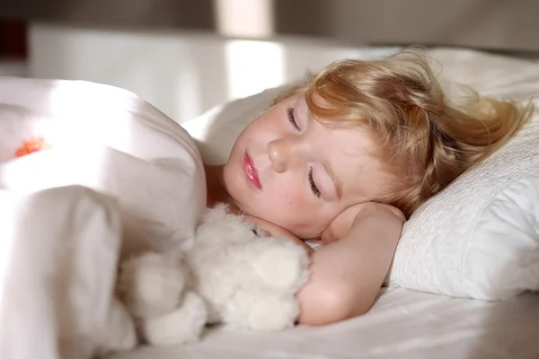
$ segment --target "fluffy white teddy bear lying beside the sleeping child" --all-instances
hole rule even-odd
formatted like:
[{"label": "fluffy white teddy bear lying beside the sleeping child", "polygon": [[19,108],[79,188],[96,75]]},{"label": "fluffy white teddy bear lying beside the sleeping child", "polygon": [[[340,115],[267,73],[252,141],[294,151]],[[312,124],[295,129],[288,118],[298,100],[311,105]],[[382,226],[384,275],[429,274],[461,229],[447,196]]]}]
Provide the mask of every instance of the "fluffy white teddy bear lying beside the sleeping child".
[{"label": "fluffy white teddy bear lying beside the sleeping child", "polygon": [[308,262],[298,244],[270,237],[218,206],[204,215],[191,250],[126,260],[118,289],[142,340],[181,344],[198,339],[207,324],[293,326]]}]

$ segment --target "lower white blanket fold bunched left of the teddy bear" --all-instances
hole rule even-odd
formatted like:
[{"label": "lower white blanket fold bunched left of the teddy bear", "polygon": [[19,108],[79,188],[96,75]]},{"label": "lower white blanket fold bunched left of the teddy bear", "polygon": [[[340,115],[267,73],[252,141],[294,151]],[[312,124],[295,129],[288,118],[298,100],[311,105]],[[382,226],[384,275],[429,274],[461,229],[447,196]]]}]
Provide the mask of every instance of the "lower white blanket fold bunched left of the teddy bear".
[{"label": "lower white blanket fold bunched left of the teddy bear", "polygon": [[0,357],[91,357],[132,348],[112,291],[121,243],[116,202],[87,188],[0,191]]}]

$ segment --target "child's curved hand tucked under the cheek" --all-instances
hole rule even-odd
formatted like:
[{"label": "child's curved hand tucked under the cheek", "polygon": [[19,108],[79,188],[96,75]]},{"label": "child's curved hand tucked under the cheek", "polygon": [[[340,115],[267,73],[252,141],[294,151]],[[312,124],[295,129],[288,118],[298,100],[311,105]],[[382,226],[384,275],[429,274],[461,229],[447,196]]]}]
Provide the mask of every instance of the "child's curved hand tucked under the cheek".
[{"label": "child's curved hand tucked under the cheek", "polygon": [[342,211],[322,232],[323,241],[327,243],[339,241],[350,232],[354,223],[358,223],[358,221],[370,215],[384,216],[384,221],[387,221],[388,224],[398,223],[402,225],[402,223],[406,222],[406,218],[398,208],[376,202],[364,202],[349,206]]}]

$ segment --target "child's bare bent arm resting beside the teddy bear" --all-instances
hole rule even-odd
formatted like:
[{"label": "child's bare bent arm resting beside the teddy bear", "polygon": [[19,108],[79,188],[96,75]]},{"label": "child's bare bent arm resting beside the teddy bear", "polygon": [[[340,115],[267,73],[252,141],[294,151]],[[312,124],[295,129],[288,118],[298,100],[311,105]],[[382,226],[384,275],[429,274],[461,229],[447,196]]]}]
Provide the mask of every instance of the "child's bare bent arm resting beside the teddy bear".
[{"label": "child's bare bent arm resting beside the teddy bear", "polygon": [[343,212],[323,233],[330,244],[312,255],[311,278],[298,293],[299,322],[324,325],[367,312],[391,266],[402,223],[400,211],[376,203]]}]

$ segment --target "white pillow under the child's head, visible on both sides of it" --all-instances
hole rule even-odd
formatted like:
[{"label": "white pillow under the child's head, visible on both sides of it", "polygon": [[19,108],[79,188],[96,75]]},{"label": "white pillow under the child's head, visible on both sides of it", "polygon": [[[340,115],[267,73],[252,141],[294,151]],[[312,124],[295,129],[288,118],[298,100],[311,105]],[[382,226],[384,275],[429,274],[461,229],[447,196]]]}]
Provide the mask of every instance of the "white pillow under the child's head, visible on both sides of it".
[{"label": "white pillow under the child's head, visible on both sides of it", "polygon": [[[435,72],[442,66],[443,82],[520,101],[539,93],[537,62],[461,49],[426,55],[433,58]],[[225,162],[241,130],[270,107],[277,93],[261,92],[186,123],[204,160]],[[489,300],[539,289],[538,141],[534,123],[421,206],[404,227],[389,284]]]}]

